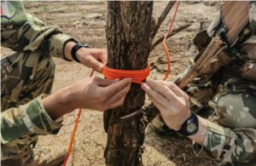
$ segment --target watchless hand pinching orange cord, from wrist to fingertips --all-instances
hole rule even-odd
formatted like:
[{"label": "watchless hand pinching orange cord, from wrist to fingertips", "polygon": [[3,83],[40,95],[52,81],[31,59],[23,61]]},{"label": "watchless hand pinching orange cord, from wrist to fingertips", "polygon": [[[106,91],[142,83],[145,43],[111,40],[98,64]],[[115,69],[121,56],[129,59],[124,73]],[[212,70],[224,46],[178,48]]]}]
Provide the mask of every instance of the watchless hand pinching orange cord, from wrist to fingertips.
[{"label": "watchless hand pinching orange cord, from wrist to fingertips", "polygon": [[96,111],[122,106],[126,94],[131,89],[131,78],[123,80],[106,80],[100,77],[90,77],[73,83],[73,106]]}]

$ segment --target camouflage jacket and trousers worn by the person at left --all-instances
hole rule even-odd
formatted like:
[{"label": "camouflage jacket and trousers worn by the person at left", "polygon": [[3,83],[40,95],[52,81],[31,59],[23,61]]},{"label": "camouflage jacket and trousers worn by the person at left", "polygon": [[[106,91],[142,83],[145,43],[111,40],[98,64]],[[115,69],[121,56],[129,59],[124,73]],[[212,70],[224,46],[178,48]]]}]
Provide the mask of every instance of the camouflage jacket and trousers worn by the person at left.
[{"label": "camouflage jacket and trousers worn by the person at left", "polygon": [[[64,58],[67,41],[58,27],[46,27],[20,2],[1,1],[1,44],[15,51],[1,60],[1,160],[32,157],[38,135],[58,133],[62,118],[52,120],[42,105],[55,75],[52,56]],[[2,162],[1,162],[2,163]]]}]

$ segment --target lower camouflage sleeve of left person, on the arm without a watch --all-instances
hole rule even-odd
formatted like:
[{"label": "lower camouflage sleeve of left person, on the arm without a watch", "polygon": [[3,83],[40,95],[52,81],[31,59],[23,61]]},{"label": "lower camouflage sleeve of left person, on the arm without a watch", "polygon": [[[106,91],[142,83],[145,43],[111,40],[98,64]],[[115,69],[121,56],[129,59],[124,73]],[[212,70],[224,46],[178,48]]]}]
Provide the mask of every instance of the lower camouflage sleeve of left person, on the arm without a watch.
[{"label": "lower camouflage sleeve of left person, on the arm without a watch", "polygon": [[38,96],[26,105],[9,108],[1,115],[1,143],[12,144],[29,135],[56,134],[61,128],[62,117],[52,120],[44,110],[42,98]]}]

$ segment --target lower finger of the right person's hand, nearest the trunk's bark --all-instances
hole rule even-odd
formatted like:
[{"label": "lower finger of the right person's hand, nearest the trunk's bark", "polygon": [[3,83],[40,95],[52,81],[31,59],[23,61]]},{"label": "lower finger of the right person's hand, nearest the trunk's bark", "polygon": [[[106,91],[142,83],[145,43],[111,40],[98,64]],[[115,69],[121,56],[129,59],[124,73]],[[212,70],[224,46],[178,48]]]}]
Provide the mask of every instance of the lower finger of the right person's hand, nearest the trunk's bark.
[{"label": "lower finger of the right person's hand, nearest the trunk's bark", "polygon": [[[142,89],[148,94],[148,96],[150,96],[150,99],[153,99],[160,104],[170,102],[169,100],[166,100],[166,98],[163,95],[161,95],[161,94],[157,93],[156,91],[154,91],[153,89],[151,89],[147,83],[142,84]],[[164,107],[166,107],[166,106],[164,106]]]}]

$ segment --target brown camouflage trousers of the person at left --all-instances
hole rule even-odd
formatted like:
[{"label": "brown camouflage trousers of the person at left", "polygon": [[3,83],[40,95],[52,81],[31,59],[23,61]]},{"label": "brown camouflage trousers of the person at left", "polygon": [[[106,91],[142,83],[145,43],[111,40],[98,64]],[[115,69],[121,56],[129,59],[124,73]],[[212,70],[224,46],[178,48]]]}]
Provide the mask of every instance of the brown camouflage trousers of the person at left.
[{"label": "brown camouflage trousers of the person at left", "polygon": [[[1,69],[1,112],[51,92],[55,63],[49,55],[15,53],[1,60]],[[37,135],[26,135],[11,145],[2,145],[2,165],[24,165],[32,158],[32,146],[37,141]]]}]

